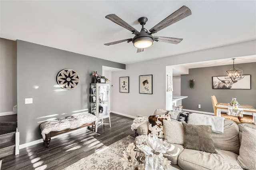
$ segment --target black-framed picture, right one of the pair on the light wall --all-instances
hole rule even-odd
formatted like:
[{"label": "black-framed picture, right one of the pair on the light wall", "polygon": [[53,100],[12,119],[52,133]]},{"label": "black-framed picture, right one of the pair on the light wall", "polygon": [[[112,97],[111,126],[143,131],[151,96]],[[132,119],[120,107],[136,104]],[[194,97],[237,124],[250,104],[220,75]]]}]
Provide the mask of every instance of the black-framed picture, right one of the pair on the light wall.
[{"label": "black-framed picture, right one of the pair on the light wall", "polygon": [[140,93],[153,94],[153,75],[140,75]]}]

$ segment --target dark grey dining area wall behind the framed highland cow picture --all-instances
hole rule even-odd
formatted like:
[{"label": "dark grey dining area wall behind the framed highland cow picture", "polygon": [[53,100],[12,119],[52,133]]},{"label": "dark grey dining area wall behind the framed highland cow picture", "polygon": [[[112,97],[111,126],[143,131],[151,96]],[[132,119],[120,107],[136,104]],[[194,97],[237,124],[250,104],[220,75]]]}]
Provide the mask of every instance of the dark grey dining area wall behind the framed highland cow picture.
[{"label": "dark grey dining area wall behind the framed highland cow picture", "polygon": [[[235,97],[240,104],[256,107],[256,62],[235,64],[243,70],[244,75],[251,75],[251,89],[212,89],[212,76],[224,76],[233,65],[189,69],[188,75],[181,76],[181,95],[188,96],[182,100],[185,109],[213,113],[211,96],[218,102],[228,103]],[[194,88],[190,89],[189,80],[195,79]],[[201,109],[198,109],[198,104]]]}]

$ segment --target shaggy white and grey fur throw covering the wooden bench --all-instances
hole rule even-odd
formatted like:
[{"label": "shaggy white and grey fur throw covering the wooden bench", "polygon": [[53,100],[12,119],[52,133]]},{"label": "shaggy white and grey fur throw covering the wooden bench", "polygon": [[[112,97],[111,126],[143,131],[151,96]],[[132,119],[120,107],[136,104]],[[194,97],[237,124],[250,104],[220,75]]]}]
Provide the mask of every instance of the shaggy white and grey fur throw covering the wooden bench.
[{"label": "shaggy white and grey fur throw covering the wooden bench", "polygon": [[98,118],[90,113],[84,113],[81,115],[68,116],[53,121],[47,121],[40,124],[42,138],[45,140],[45,135],[52,131],[78,128],[84,124],[92,123],[94,121],[96,124],[98,122]]}]

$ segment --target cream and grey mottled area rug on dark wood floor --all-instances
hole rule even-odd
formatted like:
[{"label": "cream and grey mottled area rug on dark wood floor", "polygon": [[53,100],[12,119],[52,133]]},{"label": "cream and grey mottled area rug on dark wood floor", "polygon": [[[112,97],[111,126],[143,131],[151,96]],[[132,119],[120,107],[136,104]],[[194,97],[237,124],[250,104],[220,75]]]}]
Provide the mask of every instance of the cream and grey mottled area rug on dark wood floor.
[{"label": "cream and grey mottled area rug on dark wood floor", "polygon": [[82,158],[64,170],[123,170],[123,150],[135,138],[127,136],[117,142],[102,148],[95,153]]}]

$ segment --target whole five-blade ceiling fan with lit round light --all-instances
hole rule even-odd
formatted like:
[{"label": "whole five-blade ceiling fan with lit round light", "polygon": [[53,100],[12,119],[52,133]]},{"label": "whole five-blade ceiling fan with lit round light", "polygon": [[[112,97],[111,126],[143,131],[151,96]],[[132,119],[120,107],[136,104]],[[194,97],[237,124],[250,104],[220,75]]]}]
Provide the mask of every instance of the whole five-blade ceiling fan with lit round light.
[{"label": "whole five-blade ceiling fan with lit round light", "polygon": [[176,10],[174,13],[170,14],[168,17],[166,17],[164,20],[156,24],[153,28],[151,28],[149,31],[144,28],[144,25],[148,21],[148,18],[146,17],[140,17],[138,19],[138,22],[140,25],[142,25],[142,28],[140,32],[138,32],[135,28],[127,24],[124,20],[116,16],[116,14],[109,14],[106,16],[109,20],[112,22],[126,28],[127,30],[131,31],[132,34],[135,34],[134,38],[128,38],[124,40],[119,40],[116,42],[110,42],[110,43],[104,43],[104,45],[113,45],[116,43],[121,42],[132,42],[135,47],[137,47],[137,53],[144,51],[144,48],[150,47],[154,41],[158,42],[166,42],[166,43],[174,43],[178,44],[183,39],[181,38],[170,38],[170,37],[159,37],[159,36],[152,36],[152,34],[174,24],[175,22],[182,20],[183,18],[186,18],[187,16],[191,15],[191,10],[186,7],[182,6],[180,9]]}]

